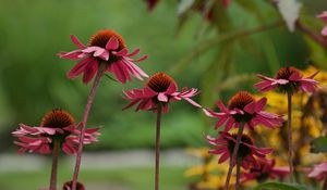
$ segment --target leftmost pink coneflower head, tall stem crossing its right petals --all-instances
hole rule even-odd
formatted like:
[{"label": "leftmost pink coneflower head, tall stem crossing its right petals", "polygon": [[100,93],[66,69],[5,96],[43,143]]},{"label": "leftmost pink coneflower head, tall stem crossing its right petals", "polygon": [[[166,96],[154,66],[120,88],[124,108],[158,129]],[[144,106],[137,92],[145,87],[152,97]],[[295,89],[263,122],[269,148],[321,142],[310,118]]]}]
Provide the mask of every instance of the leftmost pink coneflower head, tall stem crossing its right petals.
[{"label": "leftmost pink coneflower head, tall stem crossing its right petals", "polygon": [[[98,129],[86,129],[84,144],[97,141]],[[20,129],[12,132],[19,139],[14,141],[16,145],[21,147],[19,153],[28,151],[40,154],[51,153],[53,140],[60,140],[61,149],[66,154],[75,154],[81,130],[74,124],[72,115],[63,110],[52,110],[47,113],[38,127],[20,124]]]}]

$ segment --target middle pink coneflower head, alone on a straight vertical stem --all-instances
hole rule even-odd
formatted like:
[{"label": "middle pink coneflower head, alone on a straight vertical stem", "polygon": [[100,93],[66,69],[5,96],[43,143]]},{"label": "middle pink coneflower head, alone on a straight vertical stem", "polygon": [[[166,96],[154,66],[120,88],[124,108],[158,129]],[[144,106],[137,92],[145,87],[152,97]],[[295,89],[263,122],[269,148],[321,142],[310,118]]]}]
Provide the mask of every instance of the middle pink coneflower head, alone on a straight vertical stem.
[{"label": "middle pink coneflower head, alone on a straight vertical stem", "polygon": [[162,105],[162,112],[167,113],[169,102],[180,101],[182,99],[196,107],[201,107],[198,103],[191,99],[191,97],[197,93],[197,89],[187,89],[186,87],[184,87],[182,91],[178,91],[178,85],[170,76],[165,73],[157,73],[148,79],[143,89],[124,91],[124,99],[131,102],[123,110],[138,103],[136,111],[155,111],[160,103]]}]

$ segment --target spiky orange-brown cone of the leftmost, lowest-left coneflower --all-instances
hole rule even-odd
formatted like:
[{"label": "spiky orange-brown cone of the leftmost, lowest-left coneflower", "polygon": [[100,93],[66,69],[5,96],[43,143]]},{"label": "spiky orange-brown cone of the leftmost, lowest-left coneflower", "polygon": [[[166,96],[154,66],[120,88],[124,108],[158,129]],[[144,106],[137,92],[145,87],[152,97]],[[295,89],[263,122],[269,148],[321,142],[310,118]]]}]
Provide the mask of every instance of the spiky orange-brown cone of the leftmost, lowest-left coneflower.
[{"label": "spiky orange-brown cone of the leftmost, lowest-left coneflower", "polygon": [[56,109],[44,116],[40,126],[51,128],[64,128],[73,124],[74,118],[70,113],[60,109]]}]

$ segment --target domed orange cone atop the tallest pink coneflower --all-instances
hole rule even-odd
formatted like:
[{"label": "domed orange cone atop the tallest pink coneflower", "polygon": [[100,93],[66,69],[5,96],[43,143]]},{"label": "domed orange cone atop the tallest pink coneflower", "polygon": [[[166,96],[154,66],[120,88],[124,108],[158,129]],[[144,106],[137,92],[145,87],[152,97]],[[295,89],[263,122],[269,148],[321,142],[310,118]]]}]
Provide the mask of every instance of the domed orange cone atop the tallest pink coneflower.
[{"label": "domed orange cone atop the tallest pink coneflower", "polygon": [[106,48],[107,42],[112,37],[117,38],[119,41],[118,50],[122,50],[126,47],[124,39],[118,33],[116,33],[111,29],[99,30],[97,34],[95,34],[95,35],[93,35],[93,37],[90,37],[88,45]]}]

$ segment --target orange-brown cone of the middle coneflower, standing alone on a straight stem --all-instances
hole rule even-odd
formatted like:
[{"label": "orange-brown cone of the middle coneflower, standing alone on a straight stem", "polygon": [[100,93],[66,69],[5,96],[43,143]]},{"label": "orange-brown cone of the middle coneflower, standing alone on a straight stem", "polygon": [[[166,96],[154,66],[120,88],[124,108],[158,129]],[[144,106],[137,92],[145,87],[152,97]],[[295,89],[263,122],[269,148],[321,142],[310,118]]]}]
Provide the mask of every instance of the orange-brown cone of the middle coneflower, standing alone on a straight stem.
[{"label": "orange-brown cone of the middle coneflower, standing alone on a straight stem", "polygon": [[171,84],[175,84],[174,80],[166,73],[160,72],[152,76],[146,83],[146,86],[155,92],[164,92]]}]

